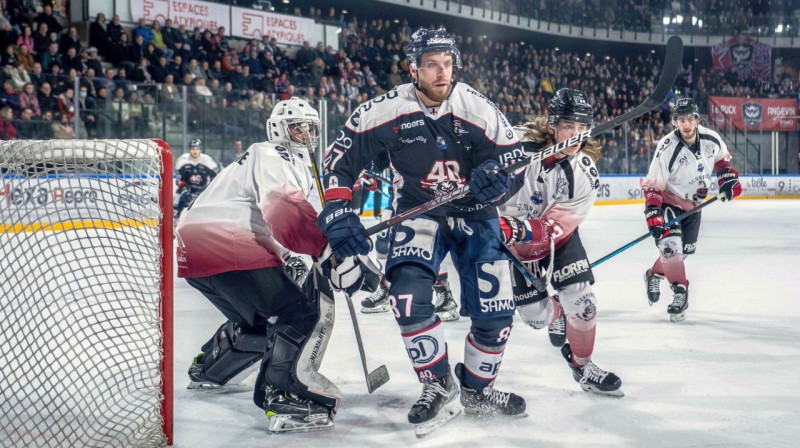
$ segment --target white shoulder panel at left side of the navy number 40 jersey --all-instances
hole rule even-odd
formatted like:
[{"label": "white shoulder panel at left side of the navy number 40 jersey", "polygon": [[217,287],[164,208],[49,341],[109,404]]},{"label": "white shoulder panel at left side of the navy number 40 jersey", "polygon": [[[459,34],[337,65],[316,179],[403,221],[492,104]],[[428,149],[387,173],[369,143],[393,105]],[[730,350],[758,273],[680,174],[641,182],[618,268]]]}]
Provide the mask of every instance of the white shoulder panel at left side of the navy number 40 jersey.
[{"label": "white shoulder panel at left side of the navy number 40 jersey", "polygon": [[402,84],[383,95],[361,103],[350,114],[345,126],[356,132],[364,132],[393,121],[400,115],[416,111],[419,111],[419,106],[414,85]]}]

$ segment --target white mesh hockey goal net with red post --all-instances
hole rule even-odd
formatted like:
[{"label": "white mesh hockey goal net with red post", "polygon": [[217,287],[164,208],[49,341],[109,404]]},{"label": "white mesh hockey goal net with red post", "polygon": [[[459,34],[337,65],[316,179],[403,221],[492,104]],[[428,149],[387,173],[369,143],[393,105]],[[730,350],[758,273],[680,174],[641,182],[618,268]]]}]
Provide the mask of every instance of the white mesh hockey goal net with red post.
[{"label": "white mesh hockey goal net with red post", "polygon": [[172,153],[0,142],[0,447],[172,443]]}]

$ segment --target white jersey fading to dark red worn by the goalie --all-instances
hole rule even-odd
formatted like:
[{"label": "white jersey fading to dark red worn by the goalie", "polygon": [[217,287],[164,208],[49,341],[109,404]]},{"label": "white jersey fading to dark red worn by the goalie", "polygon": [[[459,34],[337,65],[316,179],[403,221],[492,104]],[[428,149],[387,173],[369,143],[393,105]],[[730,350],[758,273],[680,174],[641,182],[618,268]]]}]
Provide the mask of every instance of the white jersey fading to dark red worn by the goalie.
[{"label": "white jersey fading to dark red worn by the goalie", "polygon": [[307,157],[263,142],[225,167],[181,215],[178,276],[281,266],[284,248],[320,255],[327,240]]}]

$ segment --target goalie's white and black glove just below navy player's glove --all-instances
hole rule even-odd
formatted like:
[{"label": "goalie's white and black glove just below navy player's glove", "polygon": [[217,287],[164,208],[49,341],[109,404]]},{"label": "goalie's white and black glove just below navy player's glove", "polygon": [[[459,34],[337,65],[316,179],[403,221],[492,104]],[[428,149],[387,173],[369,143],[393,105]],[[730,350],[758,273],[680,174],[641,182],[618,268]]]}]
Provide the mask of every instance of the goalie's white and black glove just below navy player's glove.
[{"label": "goalie's white and black glove just below navy player's glove", "polygon": [[315,260],[314,266],[326,277],[331,287],[353,295],[358,291],[374,292],[381,279],[380,263],[366,255],[334,258],[330,246]]}]

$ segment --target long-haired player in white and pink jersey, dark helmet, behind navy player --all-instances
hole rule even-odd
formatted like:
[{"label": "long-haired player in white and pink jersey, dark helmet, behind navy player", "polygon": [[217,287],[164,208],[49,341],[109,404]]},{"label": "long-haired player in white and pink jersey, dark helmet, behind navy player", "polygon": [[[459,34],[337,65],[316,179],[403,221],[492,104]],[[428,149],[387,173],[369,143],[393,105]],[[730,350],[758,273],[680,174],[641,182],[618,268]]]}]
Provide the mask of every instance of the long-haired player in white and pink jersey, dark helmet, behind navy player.
[{"label": "long-haired player in white and pink jersey, dark helmet, behind navy player", "polygon": [[[550,101],[547,117],[518,127],[529,153],[589,130],[594,111],[580,90],[563,88]],[[503,242],[531,269],[531,284],[514,270],[514,300],[522,320],[534,329],[550,326],[573,378],[583,390],[622,396],[622,381],[592,361],[597,324],[594,275],[578,227],[597,198],[595,162],[602,146],[594,139],[528,166],[522,185],[500,209]],[[527,264],[530,263],[530,264]],[[557,294],[547,294],[550,282]],[[568,344],[564,344],[564,328]]]}]

